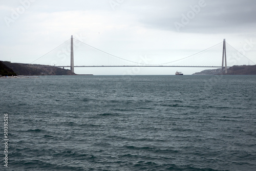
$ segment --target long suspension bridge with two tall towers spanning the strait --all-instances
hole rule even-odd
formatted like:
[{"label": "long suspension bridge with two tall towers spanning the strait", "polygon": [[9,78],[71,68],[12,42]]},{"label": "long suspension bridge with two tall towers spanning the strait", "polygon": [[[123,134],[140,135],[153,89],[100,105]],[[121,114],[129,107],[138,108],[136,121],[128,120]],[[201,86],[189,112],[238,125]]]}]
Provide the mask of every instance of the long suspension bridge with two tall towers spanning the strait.
[{"label": "long suspension bridge with two tall towers spanning the strait", "polygon": [[[76,44],[74,44],[74,42],[76,42]],[[221,49],[218,48],[218,50],[211,51],[210,54],[206,53],[207,51],[217,46],[221,46]],[[30,63],[30,65],[37,65],[36,63],[40,63],[40,65],[55,66],[63,69],[70,68],[73,73],[74,68],[76,67],[200,67],[222,68],[222,72],[227,73],[227,68],[233,65],[246,65],[248,64],[248,62],[254,63],[242,53],[234,49],[231,45],[229,45],[229,48],[230,47],[231,49],[233,49],[234,52],[229,55],[228,61],[226,52],[226,40],[224,39],[223,42],[220,42],[215,46],[209,47],[193,55],[182,57],[177,60],[163,61],[161,63],[152,63],[148,61],[143,62],[141,60],[136,62],[127,58],[121,58],[116,55],[112,55],[108,52],[92,47],[78,39],[73,38],[72,35],[69,40],[65,41],[63,44],[48,52],[47,54],[34,60]],[[221,50],[222,58],[220,57]],[[79,59],[76,62],[79,63],[79,65],[74,65],[74,56]],[[83,63],[86,63],[87,65],[83,65]],[[229,63],[229,66],[227,65],[227,63]]]}]

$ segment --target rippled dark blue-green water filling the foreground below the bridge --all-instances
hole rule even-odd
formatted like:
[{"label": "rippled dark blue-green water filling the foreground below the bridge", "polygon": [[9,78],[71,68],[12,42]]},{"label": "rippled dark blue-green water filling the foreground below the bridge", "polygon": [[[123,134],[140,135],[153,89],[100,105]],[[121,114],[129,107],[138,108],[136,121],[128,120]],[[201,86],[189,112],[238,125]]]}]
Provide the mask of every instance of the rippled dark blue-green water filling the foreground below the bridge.
[{"label": "rippled dark blue-green water filling the foreground below the bridge", "polygon": [[256,169],[256,76],[44,76],[0,87],[0,170]]}]

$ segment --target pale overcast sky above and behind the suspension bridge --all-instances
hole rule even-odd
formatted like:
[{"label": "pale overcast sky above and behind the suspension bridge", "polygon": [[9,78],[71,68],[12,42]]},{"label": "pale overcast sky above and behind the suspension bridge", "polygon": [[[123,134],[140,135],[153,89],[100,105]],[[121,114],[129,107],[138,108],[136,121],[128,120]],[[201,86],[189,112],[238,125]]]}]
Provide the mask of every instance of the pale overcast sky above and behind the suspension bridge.
[{"label": "pale overcast sky above and behind the suspension bridge", "polygon": [[[73,35],[115,56],[153,64],[193,55],[226,38],[251,64],[256,62],[254,0],[0,1],[0,60],[31,63]],[[214,49],[220,61],[221,46]],[[228,59],[240,60],[230,53]],[[78,56],[74,62],[87,65]],[[204,68],[75,68],[75,73],[174,74],[177,70],[193,74]]]}]

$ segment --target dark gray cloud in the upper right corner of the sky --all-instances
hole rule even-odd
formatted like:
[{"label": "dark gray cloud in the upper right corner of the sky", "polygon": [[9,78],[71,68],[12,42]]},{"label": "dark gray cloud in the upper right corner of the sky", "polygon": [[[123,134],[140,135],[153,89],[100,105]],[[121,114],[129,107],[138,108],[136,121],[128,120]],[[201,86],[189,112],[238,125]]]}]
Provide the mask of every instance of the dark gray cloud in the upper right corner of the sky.
[{"label": "dark gray cloud in the upper right corner of the sky", "polygon": [[[152,6],[144,11],[144,15],[139,16],[139,21],[145,27],[177,31],[174,23],[182,24],[183,15],[187,17],[188,13],[193,11],[190,6],[195,7],[198,2],[175,5],[169,1],[164,6]],[[195,17],[189,19],[189,23],[180,29],[182,32],[230,33],[254,29],[251,25],[256,24],[255,1],[205,0],[205,4],[206,6],[201,7],[200,12],[195,13]],[[170,10],[174,6],[180,10]]]}]

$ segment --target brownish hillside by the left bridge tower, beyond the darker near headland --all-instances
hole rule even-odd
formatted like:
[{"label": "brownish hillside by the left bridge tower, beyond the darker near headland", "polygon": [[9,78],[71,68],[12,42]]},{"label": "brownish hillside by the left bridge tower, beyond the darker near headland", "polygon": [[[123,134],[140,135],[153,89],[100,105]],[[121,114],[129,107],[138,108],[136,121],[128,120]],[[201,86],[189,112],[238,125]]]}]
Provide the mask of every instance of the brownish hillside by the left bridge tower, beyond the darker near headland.
[{"label": "brownish hillside by the left bridge tower, beyond the darker near headland", "polygon": [[27,63],[11,63],[2,61],[7,67],[12,69],[17,75],[76,75],[70,70],[44,65],[29,65]]}]

